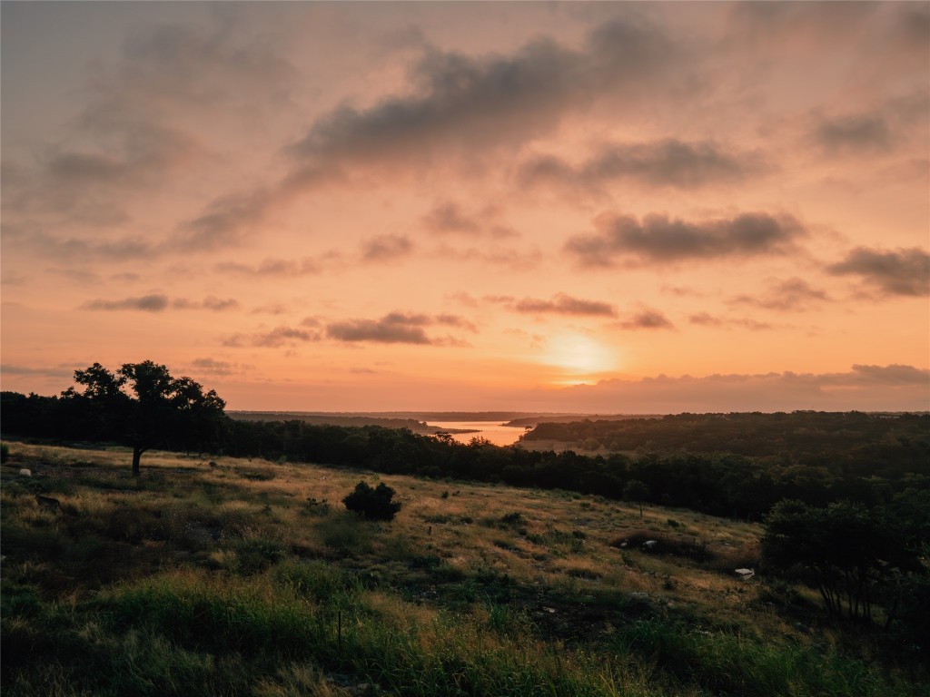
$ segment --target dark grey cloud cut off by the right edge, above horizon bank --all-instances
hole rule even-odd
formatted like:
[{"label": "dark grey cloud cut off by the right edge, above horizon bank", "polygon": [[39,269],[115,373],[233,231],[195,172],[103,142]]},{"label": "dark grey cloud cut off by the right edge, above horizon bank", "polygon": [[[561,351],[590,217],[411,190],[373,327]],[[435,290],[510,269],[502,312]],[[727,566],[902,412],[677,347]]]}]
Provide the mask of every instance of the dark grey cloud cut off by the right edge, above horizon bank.
[{"label": "dark grey cloud cut off by the right edge, above horizon bank", "polygon": [[893,252],[857,247],[827,270],[835,276],[859,276],[889,296],[930,295],[930,254],[918,247]]}]

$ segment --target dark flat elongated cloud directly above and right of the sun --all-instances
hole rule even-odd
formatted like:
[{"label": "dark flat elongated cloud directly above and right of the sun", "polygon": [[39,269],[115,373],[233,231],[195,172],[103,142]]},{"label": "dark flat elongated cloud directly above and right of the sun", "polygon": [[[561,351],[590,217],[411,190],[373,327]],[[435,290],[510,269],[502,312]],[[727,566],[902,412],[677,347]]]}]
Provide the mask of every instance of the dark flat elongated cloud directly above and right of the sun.
[{"label": "dark flat elongated cloud directly above and right of the sun", "polygon": [[732,218],[688,222],[651,214],[607,216],[597,220],[599,232],[569,239],[565,249],[583,266],[612,266],[617,257],[668,264],[686,259],[785,254],[805,234],[791,216],[744,213]]}]

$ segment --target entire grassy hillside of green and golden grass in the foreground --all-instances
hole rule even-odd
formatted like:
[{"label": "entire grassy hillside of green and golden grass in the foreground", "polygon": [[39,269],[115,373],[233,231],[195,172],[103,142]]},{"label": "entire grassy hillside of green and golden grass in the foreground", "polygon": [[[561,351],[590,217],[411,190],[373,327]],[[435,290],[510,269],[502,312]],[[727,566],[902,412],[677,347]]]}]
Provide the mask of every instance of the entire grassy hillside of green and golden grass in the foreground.
[{"label": "entire grassy hillside of green and golden grass in the foreground", "polygon": [[[755,525],[257,459],[147,454],[133,480],[125,451],[9,447],[10,697],[926,688],[868,634],[822,625],[815,593],[738,578]],[[345,511],[362,479],[396,491],[391,523]]]}]

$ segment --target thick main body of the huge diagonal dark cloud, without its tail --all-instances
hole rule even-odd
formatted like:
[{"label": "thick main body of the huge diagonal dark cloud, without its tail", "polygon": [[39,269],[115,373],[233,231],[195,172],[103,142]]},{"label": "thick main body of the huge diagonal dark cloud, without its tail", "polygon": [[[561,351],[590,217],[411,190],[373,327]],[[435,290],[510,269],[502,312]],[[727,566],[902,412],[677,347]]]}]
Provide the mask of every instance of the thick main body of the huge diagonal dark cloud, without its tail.
[{"label": "thick main body of the huge diagonal dark cloud, without its tail", "polygon": [[291,151],[299,159],[396,164],[513,149],[566,112],[588,108],[591,95],[658,91],[658,74],[671,74],[680,56],[657,27],[621,20],[597,28],[580,50],[542,37],[506,56],[430,48],[411,69],[408,95],[367,109],[343,104]]}]

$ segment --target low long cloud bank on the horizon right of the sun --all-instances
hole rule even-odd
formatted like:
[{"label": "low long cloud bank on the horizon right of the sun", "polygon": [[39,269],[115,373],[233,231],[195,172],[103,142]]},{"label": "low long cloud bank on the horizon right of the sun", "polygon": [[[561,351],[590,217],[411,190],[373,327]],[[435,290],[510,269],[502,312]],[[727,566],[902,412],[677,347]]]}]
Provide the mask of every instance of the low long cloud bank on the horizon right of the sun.
[{"label": "low long cloud bank on the horizon right of the sun", "polygon": [[604,380],[560,391],[565,410],[627,414],[771,411],[926,411],[930,371],[910,365],[854,365],[845,373],[707,375]]}]

